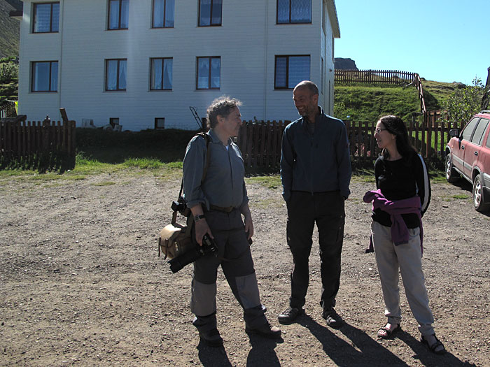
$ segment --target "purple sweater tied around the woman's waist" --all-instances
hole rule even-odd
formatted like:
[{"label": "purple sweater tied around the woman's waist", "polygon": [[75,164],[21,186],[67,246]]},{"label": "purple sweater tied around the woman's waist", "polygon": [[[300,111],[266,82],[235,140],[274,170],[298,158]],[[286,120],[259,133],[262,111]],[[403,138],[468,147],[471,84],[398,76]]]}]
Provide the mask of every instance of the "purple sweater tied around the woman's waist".
[{"label": "purple sweater tied around the woman's waist", "polygon": [[423,228],[421,215],[421,202],[419,196],[413,196],[409,199],[388,200],[381,194],[381,189],[371,190],[365,193],[363,197],[365,203],[372,202],[372,210],[381,209],[390,215],[391,218],[391,239],[395,246],[402,243],[408,243],[409,233],[407,224],[402,218],[402,214],[414,213],[419,217],[420,228],[420,247],[423,252]]}]

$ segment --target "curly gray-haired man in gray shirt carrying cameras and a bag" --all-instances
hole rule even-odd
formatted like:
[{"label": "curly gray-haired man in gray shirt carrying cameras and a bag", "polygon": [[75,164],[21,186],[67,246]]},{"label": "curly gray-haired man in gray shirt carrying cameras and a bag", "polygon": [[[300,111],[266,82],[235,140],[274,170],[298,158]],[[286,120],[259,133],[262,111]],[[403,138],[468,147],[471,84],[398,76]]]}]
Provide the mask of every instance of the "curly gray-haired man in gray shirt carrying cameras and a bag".
[{"label": "curly gray-haired man in gray shirt carrying cameras and a bag", "polygon": [[[216,255],[206,255],[194,263],[191,311],[201,340],[207,345],[223,345],[216,326],[216,276],[221,265],[235,298],[244,309],[247,333],[278,338],[281,330],[265,317],[253,268],[248,240],[253,236],[253,222],[248,208],[244,181],[244,161],[232,137],[237,136],[241,115],[237,99],[221,97],[207,110],[209,145],[202,136],[188,144],[183,161],[183,187],[195,226],[198,245],[208,235],[218,247]],[[206,166],[207,149],[209,164]],[[241,215],[244,215],[242,220]],[[245,221],[245,223],[244,223]]]}]

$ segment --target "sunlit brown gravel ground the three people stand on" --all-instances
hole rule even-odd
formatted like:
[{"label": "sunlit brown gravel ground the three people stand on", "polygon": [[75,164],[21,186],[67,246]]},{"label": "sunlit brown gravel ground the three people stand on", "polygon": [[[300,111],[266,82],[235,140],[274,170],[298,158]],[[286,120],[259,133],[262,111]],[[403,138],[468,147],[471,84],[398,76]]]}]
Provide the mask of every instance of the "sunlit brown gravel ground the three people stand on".
[{"label": "sunlit brown gravel ground the three people stand on", "polygon": [[[470,188],[433,182],[424,216],[423,271],[437,336],[428,352],[402,292],[403,331],[378,340],[384,303],[369,240],[372,182],[353,180],[346,201],[342,277],[334,330],[321,318],[318,245],[311,253],[306,315],[282,340],[248,336],[220,271],[224,348],[200,343],[190,323],[192,266],[173,274],[157,257],[180,178],[160,172],[84,180],[0,178],[1,366],[490,366],[490,217]],[[292,258],[281,189],[248,182],[252,254],[272,324],[287,306]],[[316,236],[316,235],[315,235]],[[317,237],[315,238],[317,243]]]}]

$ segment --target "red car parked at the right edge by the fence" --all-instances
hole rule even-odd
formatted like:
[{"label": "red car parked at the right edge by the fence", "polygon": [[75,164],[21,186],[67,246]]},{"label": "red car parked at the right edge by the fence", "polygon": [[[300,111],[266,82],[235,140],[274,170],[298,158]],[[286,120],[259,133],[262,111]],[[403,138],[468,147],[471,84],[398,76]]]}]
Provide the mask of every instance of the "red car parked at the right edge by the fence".
[{"label": "red car parked at the right edge by the fence", "polygon": [[451,129],[446,145],[446,179],[459,175],[473,185],[473,206],[479,212],[490,209],[490,110],[472,117],[463,131]]}]

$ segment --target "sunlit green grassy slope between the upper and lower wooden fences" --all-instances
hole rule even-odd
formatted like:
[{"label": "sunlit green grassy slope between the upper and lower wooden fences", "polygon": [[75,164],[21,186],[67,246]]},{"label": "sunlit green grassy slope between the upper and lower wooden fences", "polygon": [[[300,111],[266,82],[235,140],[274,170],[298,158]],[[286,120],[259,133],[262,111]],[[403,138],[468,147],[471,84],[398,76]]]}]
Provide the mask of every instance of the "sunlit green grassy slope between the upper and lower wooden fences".
[{"label": "sunlit green grassy slope between the upper and lower wooden fences", "polygon": [[[422,87],[427,110],[438,110],[457,85],[422,80]],[[382,115],[398,115],[408,122],[412,113],[420,112],[419,94],[412,86],[336,84],[334,94],[334,115],[340,119],[375,121]]]}]

